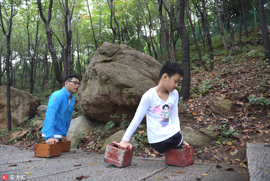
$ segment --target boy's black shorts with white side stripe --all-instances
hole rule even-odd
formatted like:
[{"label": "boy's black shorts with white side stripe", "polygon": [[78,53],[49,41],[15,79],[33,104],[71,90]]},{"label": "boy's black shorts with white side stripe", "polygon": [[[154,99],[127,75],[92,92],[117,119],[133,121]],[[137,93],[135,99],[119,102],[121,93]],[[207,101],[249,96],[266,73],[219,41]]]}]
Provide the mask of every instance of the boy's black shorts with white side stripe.
[{"label": "boy's black shorts with white side stripe", "polygon": [[151,143],[151,146],[158,151],[159,153],[166,152],[167,149],[170,148],[183,148],[183,136],[180,133],[176,133],[172,137],[168,138],[167,140],[158,142],[158,143]]}]

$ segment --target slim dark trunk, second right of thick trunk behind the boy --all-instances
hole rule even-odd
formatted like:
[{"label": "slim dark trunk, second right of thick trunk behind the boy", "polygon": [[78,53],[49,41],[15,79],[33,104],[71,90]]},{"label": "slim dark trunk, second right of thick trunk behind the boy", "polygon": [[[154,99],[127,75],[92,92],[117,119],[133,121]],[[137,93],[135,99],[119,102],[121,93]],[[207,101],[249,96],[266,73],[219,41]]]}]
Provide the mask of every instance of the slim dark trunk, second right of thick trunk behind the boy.
[{"label": "slim dark trunk, second right of thick trunk behind the boy", "polygon": [[205,7],[204,0],[202,0],[202,9],[203,9],[204,22],[205,22],[204,24],[206,28],[206,38],[207,38],[209,54],[210,54],[210,69],[214,70],[213,45],[212,45],[212,39],[211,39],[210,31],[209,31],[208,17],[206,14],[206,7]]}]

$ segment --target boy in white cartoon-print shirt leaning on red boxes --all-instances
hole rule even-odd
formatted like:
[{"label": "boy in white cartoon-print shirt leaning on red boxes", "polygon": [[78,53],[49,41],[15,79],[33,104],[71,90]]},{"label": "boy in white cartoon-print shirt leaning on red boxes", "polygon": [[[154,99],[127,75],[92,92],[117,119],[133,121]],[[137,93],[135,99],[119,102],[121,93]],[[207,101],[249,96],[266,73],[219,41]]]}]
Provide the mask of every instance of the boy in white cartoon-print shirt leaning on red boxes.
[{"label": "boy in white cartoon-print shirt leaning on red boxes", "polygon": [[158,152],[170,148],[182,148],[189,144],[183,140],[178,116],[179,94],[177,84],[184,71],[178,62],[164,64],[159,73],[159,84],[149,89],[140,101],[119,148],[127,149],[132,145],[129,140],[146,114],[148,142]]}]

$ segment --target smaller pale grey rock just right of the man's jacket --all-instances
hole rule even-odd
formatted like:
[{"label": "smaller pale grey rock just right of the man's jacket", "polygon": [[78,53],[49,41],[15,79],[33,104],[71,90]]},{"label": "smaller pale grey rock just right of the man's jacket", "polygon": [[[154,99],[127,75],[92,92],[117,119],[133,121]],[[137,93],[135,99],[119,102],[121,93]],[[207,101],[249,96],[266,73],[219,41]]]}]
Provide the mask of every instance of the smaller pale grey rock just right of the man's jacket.
[{"label": "smaller pale grey rock just right of the man's jacket", "polygon": [[76,147],[81,139],[89,136],[91,127],[95,126],[85,115],[79,116],[70,121],[70,127],[67,131],[67,140],[71,142],[71,147]]}]

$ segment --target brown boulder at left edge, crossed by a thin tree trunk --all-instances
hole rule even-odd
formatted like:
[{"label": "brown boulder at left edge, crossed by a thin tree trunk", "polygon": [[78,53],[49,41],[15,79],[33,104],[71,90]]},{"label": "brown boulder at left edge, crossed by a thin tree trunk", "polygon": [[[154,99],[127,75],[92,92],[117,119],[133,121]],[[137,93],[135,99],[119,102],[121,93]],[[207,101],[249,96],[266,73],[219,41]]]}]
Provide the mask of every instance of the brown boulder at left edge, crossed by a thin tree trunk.
[{"label": "brown boulder at left edge, crossed by a thin tree trunk", "polygon": [[[22,118],[34,117],[40,100],[33,94],[10,87],[11,127],[22,124]],[[0,86],[0,128],[7,127],[7,86]]]}]

